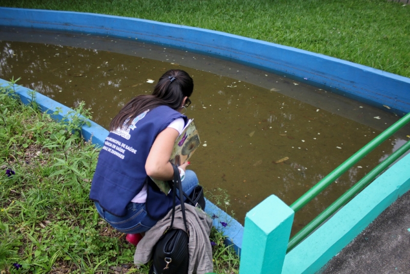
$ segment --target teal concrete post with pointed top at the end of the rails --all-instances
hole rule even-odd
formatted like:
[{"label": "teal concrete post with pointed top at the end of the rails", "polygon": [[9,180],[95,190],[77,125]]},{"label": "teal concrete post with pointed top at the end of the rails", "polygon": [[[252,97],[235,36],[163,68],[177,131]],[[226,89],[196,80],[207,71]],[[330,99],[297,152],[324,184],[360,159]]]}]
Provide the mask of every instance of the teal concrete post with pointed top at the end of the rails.
[{"label": "teal concrete post with pointed top at the end of the rails", "polygon": [[240,274],[281,273],[295,212],[275,195],[245,217]]}]

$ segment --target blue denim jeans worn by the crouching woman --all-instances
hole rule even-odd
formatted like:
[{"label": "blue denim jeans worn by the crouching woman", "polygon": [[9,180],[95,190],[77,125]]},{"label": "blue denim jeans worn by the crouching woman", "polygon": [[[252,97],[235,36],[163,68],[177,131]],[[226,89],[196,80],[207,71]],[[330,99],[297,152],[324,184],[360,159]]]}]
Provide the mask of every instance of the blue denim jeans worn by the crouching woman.
[{"label": "blue denim jeans worn by the crouching woman", "polygon": [[[185,179],[182,182],[183,192],[189,195],[197,185],[198,179],[195,172],[192,170],[187,170],[185,173]],[[177,193],[178,192],[179,191],[177,191]],[[127,214],[122,217],[114,216],[113,214],[107,212],[99,205],[98,202],[94,202],[94,204],[101,218],[120,232],[127,234],[145,232],[153,227],[157,222],[148,216],[145,203],[130,202],[127,205]]]}]

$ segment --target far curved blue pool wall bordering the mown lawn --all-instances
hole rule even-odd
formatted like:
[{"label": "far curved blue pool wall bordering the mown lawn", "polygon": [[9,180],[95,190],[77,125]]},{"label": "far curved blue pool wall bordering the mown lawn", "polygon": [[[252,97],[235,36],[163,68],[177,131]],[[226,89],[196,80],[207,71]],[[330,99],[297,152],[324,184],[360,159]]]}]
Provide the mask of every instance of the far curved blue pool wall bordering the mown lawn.
[{"label": "far curved blue pool wall bordering the mown lawn", "polygon": [[263,68],[402,116],[410,79],[370,67],[219,31],[111,15],[0,8],[0,25],[73,31],[166,44]]}]

